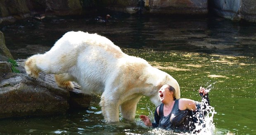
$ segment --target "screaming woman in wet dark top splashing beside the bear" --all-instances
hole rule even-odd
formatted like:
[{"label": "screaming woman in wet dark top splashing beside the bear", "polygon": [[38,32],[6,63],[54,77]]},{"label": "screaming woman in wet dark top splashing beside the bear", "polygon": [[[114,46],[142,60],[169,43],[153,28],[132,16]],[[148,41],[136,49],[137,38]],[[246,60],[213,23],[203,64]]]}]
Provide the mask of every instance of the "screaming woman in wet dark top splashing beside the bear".
[{"label": "screaming woman in wet dark top splashing beside the bear", "polygon": [[194,123],[198,122],[195,116],[204,117],[206,113],[206,105],[209,104],[209,98],[205,88],[200,87],[199,94],[202,99],[206,99],[201,107],[201,103],[187,98],[175,98],[175,89],[170,85],[164,85],[159,90],[159,98],[161,105],[156,107],[154,119],[156,123],[152,123],[145,115],[140,115],[140,119],[146,126],[153,128],[159,127],[163,129],[171,129],[175,131],[190,132],[194,130]]}]

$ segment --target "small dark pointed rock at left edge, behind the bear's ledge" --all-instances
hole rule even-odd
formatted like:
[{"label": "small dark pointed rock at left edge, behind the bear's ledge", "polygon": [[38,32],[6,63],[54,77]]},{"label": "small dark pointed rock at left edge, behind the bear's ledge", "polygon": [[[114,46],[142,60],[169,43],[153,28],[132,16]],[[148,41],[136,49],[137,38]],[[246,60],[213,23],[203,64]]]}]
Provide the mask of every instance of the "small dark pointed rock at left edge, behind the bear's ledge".
[{"label": "small dark pointed rock at left edge, behind the bear's ledge", "polygon": [[12,54],[10,53],[9,49],[5,45],[5,36],[1,31],[0,31],[0,55],[2,55],[0,57],[0,61],[3,61],[2,59],[5,59],[5,57],[13,59]]}]

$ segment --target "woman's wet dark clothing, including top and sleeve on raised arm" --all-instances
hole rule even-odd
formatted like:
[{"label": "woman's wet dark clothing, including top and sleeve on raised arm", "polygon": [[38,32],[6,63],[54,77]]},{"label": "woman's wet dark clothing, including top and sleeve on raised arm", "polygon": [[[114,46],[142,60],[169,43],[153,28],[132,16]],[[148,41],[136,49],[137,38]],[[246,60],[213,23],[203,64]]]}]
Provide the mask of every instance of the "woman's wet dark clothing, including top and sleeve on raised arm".
[{"label": "woman's wet dark clothing, including top and sleeve on raised arm", "polygon": [[[182,131],[182,132],[190,132],[194,130],[195,125],[199,121],[195,116],[199,116],[204,119],[206,114],[206,110],[202,110],[201,108],[206,108],[206,105],[209,105],[209,98],[207,96],[202,96],[202,100],[207,100],[206,102],[196,102],[197,111],[193,112],[189,109],[180,110],[179,109],[179,99],[175,100],[173,109],[168,116],[164,116],[164,104],[161,104],[159,107],[159,114],[157,111],[154,112],[154,118],[156,123],[152,123],[152,127],[163,128],[165,130],[174,130],[174,131]],[[207,99],[206,99],[207,98]],[[156,107],[157,108],[157,107]],[[196,115],[195,115],[196,114]],[[201,121],[199,121],[201,122]]]}]

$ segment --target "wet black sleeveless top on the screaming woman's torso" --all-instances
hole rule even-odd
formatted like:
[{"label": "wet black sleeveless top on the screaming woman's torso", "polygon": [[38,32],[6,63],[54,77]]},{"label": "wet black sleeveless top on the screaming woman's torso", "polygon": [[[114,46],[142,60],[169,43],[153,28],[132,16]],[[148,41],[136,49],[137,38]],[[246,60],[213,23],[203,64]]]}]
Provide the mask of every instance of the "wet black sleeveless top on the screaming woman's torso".
[{"label": "wet black sleeveless top on the screaming woman's torso", "polygon": [[[157,113],[157,112],[156,112]],[[179,99],[175,100],[173,109],[168,116],[164,116],[164,104],[159,107],[159,121],[156,119],[156,123],[159,123],[158,127],[163,129],[171,129],[175,131],[192,131],[194,121],[192,118],[192,111],[189,109],[179,109]]]}]

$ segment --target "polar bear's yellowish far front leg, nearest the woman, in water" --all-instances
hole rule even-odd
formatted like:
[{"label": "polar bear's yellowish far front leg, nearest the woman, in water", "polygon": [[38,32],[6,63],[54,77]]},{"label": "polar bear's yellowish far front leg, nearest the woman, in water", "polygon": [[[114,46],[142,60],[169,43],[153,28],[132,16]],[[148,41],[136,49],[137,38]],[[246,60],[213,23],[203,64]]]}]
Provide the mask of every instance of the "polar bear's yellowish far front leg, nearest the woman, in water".
[{"label": "polar bear's yellowish far front leg, nearest the woman, in water", "polygon": [[120,112],[122,114],[123,119],[128,121],[134,121],[137,103],[140,101],[141,96],[123,102],[120,105]]}]

